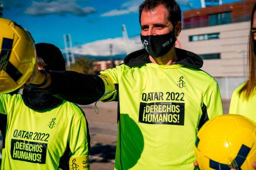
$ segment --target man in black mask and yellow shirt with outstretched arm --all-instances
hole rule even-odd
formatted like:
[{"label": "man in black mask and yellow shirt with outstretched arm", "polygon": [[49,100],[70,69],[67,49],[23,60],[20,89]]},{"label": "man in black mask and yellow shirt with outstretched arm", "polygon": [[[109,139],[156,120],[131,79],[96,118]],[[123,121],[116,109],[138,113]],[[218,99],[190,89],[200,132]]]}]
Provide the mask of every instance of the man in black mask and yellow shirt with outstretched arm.
[{"label": "man in black mask and yellow shirt with outstretched arm", "polygon": [[198,130],[223,114],[218,83],[200,70],[200,56],[174,47],[182,29],[175,0],[145,0],[139,13],[145,49],[122,65],[100,75],[36,72],[30,82],[79,104],[118,101],[116,170],[191,170]]}]

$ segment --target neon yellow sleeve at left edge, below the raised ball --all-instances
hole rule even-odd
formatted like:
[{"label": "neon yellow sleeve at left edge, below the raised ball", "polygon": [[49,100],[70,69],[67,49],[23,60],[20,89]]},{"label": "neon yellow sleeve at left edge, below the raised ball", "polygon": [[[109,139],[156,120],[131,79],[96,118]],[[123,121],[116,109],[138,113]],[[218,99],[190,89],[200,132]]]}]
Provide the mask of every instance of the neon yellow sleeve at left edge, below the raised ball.
[{"label": "neon yellow sleeve at left edge, below the raised ball", "polygon": [[11,95],[0,95],[0,114],[8,115],[13,106],[13,100]]}]

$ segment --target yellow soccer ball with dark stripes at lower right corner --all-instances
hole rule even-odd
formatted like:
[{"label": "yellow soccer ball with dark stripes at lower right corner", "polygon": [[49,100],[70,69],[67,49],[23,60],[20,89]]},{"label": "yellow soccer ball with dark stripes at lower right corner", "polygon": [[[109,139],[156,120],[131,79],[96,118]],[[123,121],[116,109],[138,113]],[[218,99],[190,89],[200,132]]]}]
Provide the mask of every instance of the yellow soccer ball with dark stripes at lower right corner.
[{"label": "yellow soccer ball with dark stripes at lower right corner", "polygon": [[201,170],[254,170],[256,124],[240,115],[221,115],[202,126],[195,142]]}]

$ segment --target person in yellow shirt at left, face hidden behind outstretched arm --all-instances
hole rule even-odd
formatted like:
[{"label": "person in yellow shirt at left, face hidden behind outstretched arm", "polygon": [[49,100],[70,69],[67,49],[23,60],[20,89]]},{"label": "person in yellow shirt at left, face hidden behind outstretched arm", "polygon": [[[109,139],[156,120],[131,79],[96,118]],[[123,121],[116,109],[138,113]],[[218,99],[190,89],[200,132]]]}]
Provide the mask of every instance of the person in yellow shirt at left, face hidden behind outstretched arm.
[{"label": "person in yellow shirt at left, face hidden behind outstretched arm", "polygon": [[[58,47],[39,43],[36,54],[39,70],[66,70]],[[0,95],[0,113],[7,115],[3,170],[90,169],[90,135],[77,105],[25,85],[22,95]]]}]

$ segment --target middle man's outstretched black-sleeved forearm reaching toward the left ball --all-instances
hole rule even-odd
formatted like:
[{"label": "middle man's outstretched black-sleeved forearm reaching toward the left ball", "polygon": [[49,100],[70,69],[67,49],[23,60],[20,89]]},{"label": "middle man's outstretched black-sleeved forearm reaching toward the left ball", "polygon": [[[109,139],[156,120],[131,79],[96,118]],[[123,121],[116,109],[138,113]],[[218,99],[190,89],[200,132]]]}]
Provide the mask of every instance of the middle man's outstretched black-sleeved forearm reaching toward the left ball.
[{"label": "middle man's outstretched black-sleeved forearm reaching toward the left ball", "polygon": [[97,75],[85,75],[74,71],[40,72],[37,69],[28,83],[43,88],[62,100],[88,105],[105,93],[103,80]]}]

